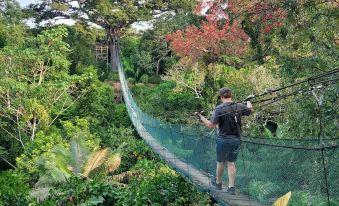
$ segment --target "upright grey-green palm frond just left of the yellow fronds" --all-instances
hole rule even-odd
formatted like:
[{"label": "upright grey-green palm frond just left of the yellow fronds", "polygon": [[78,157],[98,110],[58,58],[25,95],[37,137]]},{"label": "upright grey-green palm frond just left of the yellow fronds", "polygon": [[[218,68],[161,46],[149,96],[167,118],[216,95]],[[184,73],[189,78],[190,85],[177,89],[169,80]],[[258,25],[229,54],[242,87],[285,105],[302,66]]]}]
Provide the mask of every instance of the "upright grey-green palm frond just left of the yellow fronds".
[{"label": "upright grey-green palm frond just left of the yellow fronds", "polygon": [[89,150],[85,147],[81,140],[73,139],[71,141],[71,165],[74,173],[81,173],[81,169],[84,162],[86,162],[88,154]]}]

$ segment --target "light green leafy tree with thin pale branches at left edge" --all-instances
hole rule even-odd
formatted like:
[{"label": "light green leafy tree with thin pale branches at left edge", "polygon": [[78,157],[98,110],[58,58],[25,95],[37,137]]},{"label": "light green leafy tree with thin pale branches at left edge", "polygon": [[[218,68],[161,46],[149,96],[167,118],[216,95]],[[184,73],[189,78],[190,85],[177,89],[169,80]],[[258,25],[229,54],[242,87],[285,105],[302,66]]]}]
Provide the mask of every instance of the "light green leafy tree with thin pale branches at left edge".
[{"label": "light green leafy tree with thin pale branches at left edge", "polygon": [[77,84],[90,75],[68,74],[66,35],[58,27],[0,50],[0,130],[13,148],[33,141],[85,92]]}]

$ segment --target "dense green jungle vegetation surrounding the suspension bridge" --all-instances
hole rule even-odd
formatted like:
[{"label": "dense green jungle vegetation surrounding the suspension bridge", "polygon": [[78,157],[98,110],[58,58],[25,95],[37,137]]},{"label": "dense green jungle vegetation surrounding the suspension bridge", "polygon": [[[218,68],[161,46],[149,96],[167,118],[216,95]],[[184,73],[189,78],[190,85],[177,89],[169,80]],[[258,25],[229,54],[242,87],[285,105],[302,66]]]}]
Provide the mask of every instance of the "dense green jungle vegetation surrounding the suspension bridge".
[{"label": "dense green jungle vegetation surrounding the suspension bridge", "polygon": [[[338,6],[317,0],[52,0],[21,8],[0,0],[0,206],[216,204],[139,137],[112,59],[98,58],[95,48],[107,46],[110,55],[117,39],[129,87],[145,113],[197,125],[192,113],[209,116],[221,87],[243,101],[337,69]],[[56,18],[73,23],[59,25]],[[311,79],[298,89],[312,91],[254,104],[243,133],[338,138],[337,82],[337,73]],[[307,164],[313,163],[305,162],[305,174]],[[275,186],[255,184],[252,193],[265,202]],[[327,204],[312,198],[299,191],[290,205]]]}]

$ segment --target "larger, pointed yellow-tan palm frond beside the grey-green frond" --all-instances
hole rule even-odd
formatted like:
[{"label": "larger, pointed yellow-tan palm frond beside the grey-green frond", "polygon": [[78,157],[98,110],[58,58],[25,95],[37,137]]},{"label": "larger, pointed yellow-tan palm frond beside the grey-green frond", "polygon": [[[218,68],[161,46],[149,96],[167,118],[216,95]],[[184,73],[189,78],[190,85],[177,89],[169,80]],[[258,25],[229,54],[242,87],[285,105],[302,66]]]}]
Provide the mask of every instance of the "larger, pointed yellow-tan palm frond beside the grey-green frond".
[{"label": "larger, pointed yellow-tan palm frond beside the grey-green frond", "polygon": [[89,174],[97,167],[102,165],[102,163],[105,162],[107,158],[108,148],[101,149],[96,152],[93,152],[91,156],[89,157],[87,164],[85,165],[84,173],[83,175],[85,177],[88,177]]}]

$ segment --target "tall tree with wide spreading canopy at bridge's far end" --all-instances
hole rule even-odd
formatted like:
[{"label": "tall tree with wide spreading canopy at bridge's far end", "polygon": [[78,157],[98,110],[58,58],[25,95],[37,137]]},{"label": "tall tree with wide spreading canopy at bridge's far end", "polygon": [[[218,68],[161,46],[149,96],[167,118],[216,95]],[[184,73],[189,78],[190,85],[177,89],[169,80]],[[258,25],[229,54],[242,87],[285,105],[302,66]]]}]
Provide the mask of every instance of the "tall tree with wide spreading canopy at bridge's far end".
[{"label": "tall tree with wide spreading canopy at bridge's far end", "polygon": [[30,9],[35,12],[37,22],[54,18],[67,18],[80,22],[95,23],[105,29],[111,51],[110,63],[112,68],[116,54],[114,43],[122,28],[141,20],[150,20],[154,14],[180,8],[190,9],[193,0],[44,0],[40,4],[32,4]]}]

